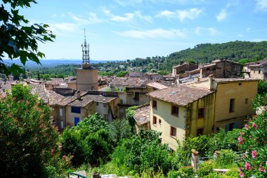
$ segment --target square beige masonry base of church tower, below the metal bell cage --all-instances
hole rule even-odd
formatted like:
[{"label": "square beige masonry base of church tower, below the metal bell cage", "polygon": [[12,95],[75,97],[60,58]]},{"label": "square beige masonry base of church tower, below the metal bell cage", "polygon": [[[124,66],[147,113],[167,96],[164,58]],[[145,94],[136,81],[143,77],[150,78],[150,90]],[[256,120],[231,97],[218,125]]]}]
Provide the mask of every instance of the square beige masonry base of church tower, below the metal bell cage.
[{"label": "square beige masonry base of church tower, below the metal bell cage", "polygon": [[77,90],[98,90],[98,70],[76,69]]}]

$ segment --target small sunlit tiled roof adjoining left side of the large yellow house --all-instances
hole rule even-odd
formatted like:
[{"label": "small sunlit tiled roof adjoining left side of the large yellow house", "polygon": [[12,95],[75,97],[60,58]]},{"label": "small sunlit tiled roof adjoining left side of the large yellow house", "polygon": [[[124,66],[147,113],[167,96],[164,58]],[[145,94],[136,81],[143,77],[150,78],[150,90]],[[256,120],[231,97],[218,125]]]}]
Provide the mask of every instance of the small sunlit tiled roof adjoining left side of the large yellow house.
[{"label": "small sunlit tiled roof adjoining left side of the large yellow house", "polygon": [[138,123],[138,125],[144,125],[150,122],[150,105],[147,104],[135,110],[135,114],[133,116],[134,120]]}]

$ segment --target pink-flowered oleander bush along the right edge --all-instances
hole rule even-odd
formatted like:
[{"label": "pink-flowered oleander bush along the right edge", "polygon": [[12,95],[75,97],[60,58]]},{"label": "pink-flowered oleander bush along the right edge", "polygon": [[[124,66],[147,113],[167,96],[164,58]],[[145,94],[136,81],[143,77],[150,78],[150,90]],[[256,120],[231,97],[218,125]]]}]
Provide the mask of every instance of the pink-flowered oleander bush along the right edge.
[{"label": "pink-flowered oleander bush along the right edge", "polygon": [[[262,98],[260,95],[257,98]],[[263,99],[266,95],[263,96]],[[265,101],[256,99],[254,108],[262,106]],[[240,176],[244,177],[267,177],[267,112],[263,111],[249,119],[249,122],[240,132],[238,141],[242,151],[247,152],[247,156],[239,163]]]}]

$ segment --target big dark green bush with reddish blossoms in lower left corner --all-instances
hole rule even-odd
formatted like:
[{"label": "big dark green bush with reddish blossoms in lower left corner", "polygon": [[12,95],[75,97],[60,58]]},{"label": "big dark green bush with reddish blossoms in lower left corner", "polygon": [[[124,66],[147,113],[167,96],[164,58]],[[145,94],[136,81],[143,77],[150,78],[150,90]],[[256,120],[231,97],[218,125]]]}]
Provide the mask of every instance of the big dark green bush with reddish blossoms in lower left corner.
[{"label": "big dark green bush with reddish blossoms in lower left corner", "polygon": [[27,86],[18,84],[1,98],[0,177],[62,174],[68,158],[59,157],[58,133],[51,125],[50,113]]}]

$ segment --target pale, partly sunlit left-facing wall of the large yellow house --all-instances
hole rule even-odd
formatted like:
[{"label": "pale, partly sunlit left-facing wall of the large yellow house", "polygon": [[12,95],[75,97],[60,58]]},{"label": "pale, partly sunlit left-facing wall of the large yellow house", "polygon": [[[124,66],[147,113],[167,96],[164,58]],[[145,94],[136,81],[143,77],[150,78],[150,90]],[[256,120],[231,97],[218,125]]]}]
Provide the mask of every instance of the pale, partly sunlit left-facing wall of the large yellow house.
[{"label": "pale, partly sunlit left-facing wall of the large yellow house", "polygon": [[[185,117],[186,109],[179,107],[178,117],[171,115],[171,103],[157,101],[157,109],[152,108],[152,100],[150,100],[150,128],[157,132],[162,132],[162,143],[169,144],[169,148],[176,150],[177,141],[185,138]],[[157,117],[157,125],[153,125],[153,115]],[[162,120],[159,125],[159,119]],[[176,136],[171,136],[171,126],[176,128]]]}]

